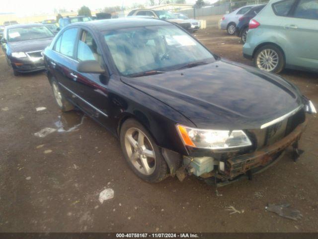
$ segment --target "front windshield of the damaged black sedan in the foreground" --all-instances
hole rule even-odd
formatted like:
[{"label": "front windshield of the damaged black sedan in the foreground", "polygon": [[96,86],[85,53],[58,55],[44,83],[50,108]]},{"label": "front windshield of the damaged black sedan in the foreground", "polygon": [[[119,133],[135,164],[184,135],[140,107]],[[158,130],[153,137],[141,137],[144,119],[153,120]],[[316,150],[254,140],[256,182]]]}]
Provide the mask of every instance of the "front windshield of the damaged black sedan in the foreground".
[{"label": "front windshield of the damaged black sedan in the foreground", "polygon": [[104,38],[118,71],[124,76],[215,61],[207,49],[173,25],[111,30],[104,33]]}]

